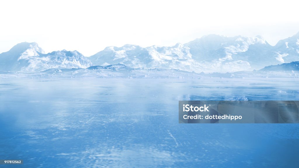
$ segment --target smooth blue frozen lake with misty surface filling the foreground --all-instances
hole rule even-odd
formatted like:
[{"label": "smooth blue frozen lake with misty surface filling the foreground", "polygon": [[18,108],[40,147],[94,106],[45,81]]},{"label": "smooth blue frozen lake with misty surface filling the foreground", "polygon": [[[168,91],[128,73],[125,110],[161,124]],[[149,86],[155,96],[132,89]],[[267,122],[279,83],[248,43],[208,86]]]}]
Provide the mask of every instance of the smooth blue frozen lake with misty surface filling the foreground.
[{"label": "smooth blue frozen lake with misty surface filling the foreground", "polygon": [[[179,100],[299,100],[299,78],[0,78],[7,167],[296,167],[298,124],[179,124]],[[5,165],[0,165],[4,167]]]}]

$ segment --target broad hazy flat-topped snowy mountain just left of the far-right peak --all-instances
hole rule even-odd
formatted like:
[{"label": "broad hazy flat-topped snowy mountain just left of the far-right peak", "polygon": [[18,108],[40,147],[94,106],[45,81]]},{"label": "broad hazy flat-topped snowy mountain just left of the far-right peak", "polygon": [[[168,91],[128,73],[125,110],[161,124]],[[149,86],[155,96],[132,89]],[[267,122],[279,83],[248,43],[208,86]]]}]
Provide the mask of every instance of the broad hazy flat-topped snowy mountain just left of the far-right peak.
[{"label": "broad hazy flat-topped snowy mountain just left of the far-right peak", "polygon": [[[192,58],[196,61],[204,60],[207,63],[217,62],[231,66],[225,66],[226,69],[219,72],[225,72],[230,68],[234,71],[260,69],[269,65],[270,60],[276,61],[274,53],[271,52],[272,46],[261,36],[225,37],[212,34],[185,45],[190,48]],[[240,64],[241,66],[234,67]]]}]

